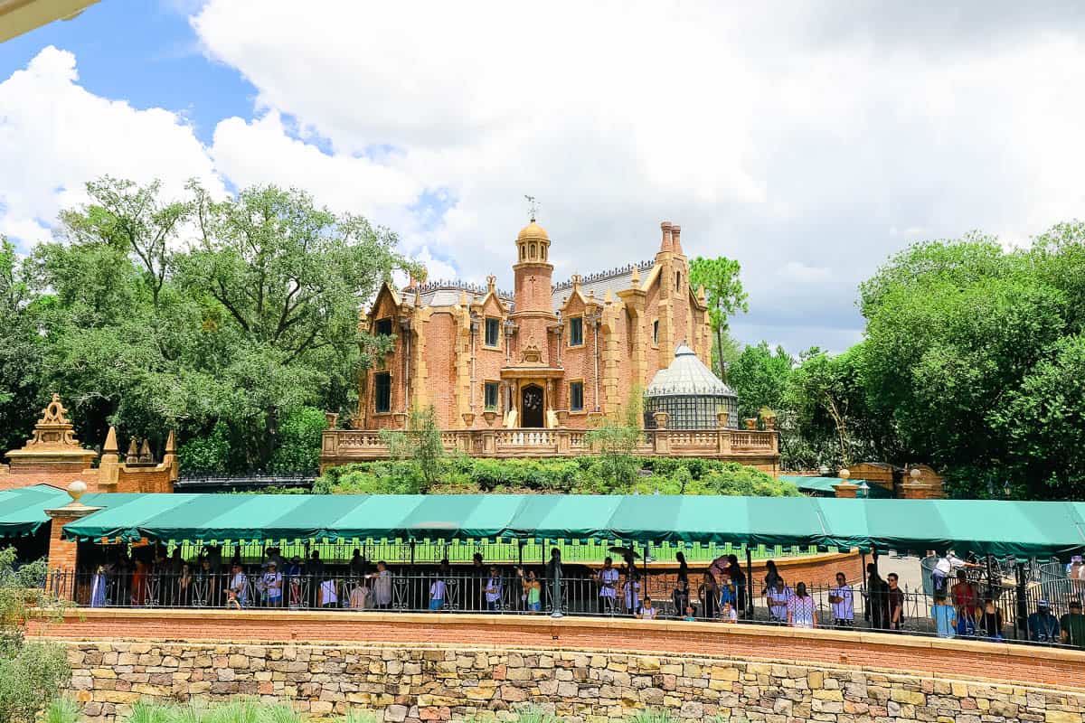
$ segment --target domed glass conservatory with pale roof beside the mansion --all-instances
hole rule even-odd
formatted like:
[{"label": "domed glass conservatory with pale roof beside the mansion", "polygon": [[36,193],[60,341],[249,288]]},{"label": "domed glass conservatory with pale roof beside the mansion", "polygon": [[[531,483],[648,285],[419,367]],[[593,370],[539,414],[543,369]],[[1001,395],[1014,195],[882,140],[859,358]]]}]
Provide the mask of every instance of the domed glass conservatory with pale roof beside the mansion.
[{"label": "domed glass conservatory with pale roof beside the mansion", "polygon": [[739,399],[730,387],[705,366],[685,344],[675,360],[652,377],[644,390],[644,427],[655,428],[655,413],[666,412],[667,429],[716,429],[717,414],[727,413],[723,426],[739,426]]}]

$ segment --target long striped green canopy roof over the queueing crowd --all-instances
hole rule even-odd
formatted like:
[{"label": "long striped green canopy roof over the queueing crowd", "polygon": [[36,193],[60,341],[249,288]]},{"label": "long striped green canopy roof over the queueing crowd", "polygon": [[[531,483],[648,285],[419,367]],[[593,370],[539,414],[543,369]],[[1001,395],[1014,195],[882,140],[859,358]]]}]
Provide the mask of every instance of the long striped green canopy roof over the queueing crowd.
[{"label": "long striped green canopy roof over the queueing crowd", "polygon": [[575,494],[100,494],[78,539],[549,538],[1067,555],[1085,503]]}]

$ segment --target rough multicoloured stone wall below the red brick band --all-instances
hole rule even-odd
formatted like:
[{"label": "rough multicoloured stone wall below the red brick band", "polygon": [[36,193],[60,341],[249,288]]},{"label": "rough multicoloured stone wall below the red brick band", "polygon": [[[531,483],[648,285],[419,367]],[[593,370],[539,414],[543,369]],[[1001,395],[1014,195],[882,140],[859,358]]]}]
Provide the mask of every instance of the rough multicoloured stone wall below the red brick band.
[{"label": "rough multicoloured stone wall below the red brick band", "polygon": [[140,698],[239,694],[289,699],[318,716],[371,708],[396,723],[478,712],[508,720],[531,703],[577,723],[621,721],[642,708],[765,723],[1082,723],[1085,711],[1085,692],[722,656],[467,645],[67,645],[72,688],[92,722],[124,714]]}]

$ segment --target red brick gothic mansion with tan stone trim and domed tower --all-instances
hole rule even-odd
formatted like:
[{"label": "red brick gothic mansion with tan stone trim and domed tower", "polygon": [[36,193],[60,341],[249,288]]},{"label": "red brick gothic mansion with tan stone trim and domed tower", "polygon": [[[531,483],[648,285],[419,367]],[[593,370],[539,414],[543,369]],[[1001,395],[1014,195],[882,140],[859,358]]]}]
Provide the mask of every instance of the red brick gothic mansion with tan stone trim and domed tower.
[{"label": "red brick gothic mansion with tan stone trim and domed tower", "polygon": [[690,286],[681,229],[661,229],[652,261],[554,284],[550,237],[532,219],[511,294],[493,275],[485,288],[385,284],[360,323],[394,347],[362,374],[352,427],[401,428],[432,404],[442,429],[585,429],[621,412],[679,345],[709,364],[704,291]]}]

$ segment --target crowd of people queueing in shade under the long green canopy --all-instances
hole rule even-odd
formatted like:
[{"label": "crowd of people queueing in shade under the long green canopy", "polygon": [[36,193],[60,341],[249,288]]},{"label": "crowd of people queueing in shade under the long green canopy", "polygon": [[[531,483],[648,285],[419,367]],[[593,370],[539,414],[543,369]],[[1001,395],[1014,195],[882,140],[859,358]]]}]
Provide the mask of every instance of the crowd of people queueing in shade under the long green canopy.
[{"label": "crowd of people queueing in shade under the long green canopy", "polygon": [[[775,624],[846,630],[856,627],[858,608],[864,627],[875,630],[902,632],[907,620],[910,629],[928,628],[941,637],[1005,638],[1006,621],[990,588],[988,594],[982,594],[968,577],[971,564],[952,553],[935,567],[936,573],[947,574],[934,578],[933,604],[926,610],[929,620],[924,622],[917,619],[923,615],[917,593],[905,593],[895,573],[882,578],[873,563],[858,586],[844,572],[835,574],[832,585],[812,586],[803,581],[789,584],[768,560],[758,592],[751,590],[748,572],[736,555],[720,556],[694,572],[678,553],[677,571],[649,574],[638,566],[636,553],[617,550],[623,553],[621,564],[607,557],[598,569],[563,566],[554,548],[550,561],[537,567],[487,565],[477,553],[467,566],[454,567],[443,559],[437,565],[393,571],[383,560],[370,563],[360,550],[345,564],[326,564],[318,551],[304,558],[285,558],[271,546],[259,563],[245,564],[237,555],[224,563],[220,548],[214,545],[192,559],[184,559],[180,547],[168,556],[162,546],[135,553],[118,547],[94,566],[86,602],[91,607],[541,614],[553,609],[558,599],[569,612],[736,623],[755,619],[753,602],[760,597],[764,611],[758,622],[766,621],[767,612],[767,622]],[[1077,560],[1077,568],[1085,569],[1085,564]],[[956,580],[953,584],[950,576]],[[556,579],[560,580],[557,585]],[[1036,643],[1085,648],[1081,603],[1072,603],[1069,612],[1057,617],[1046,601],[1039,601],[1027,616],[1026,633]]]}]

